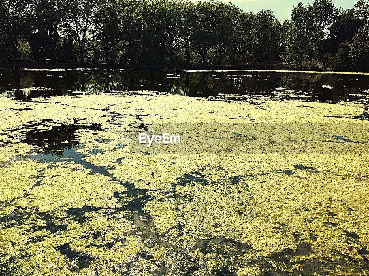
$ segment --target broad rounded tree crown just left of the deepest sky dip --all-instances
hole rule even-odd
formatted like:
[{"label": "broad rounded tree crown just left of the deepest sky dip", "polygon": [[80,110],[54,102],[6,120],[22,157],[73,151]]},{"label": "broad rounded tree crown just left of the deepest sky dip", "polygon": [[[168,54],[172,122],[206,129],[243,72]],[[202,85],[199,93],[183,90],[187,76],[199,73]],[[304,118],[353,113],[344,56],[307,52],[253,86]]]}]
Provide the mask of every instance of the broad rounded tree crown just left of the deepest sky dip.
[{"label": "broad rounded tree crown just left of the deepest sky dip", "polygon": [[245,35],[254,45],[256,57],[267,54],[267,49],[276,48],[280,43],[280,21],[275,18],[274,11],[260,10],[254,14],[245,13],[243,17]]}]

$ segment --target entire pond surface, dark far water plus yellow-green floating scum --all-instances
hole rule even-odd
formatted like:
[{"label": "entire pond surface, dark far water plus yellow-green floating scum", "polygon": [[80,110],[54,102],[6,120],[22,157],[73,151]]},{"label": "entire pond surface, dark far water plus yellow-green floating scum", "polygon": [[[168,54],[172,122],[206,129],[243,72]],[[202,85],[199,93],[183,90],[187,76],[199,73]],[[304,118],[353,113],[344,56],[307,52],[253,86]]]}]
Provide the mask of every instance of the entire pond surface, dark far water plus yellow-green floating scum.
[{"label": "entire pond surface, dark far water plus yellow-green floating scum", "polygon": [[1,88],[1,276],[369,275],[368,76],[86,72]]}]

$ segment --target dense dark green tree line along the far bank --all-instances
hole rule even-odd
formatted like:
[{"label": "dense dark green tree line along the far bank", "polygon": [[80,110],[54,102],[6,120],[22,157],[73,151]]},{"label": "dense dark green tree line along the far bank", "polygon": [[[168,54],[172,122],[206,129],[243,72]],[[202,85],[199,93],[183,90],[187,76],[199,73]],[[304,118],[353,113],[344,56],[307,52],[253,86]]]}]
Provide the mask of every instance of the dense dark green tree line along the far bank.
[{"label": "dense dark green tree line along the far bank", "polygon": [[290,68],[365,70],[369,3],[272,10],[222,1],[0,0],[0,59],[117,64],[280,61]]}]

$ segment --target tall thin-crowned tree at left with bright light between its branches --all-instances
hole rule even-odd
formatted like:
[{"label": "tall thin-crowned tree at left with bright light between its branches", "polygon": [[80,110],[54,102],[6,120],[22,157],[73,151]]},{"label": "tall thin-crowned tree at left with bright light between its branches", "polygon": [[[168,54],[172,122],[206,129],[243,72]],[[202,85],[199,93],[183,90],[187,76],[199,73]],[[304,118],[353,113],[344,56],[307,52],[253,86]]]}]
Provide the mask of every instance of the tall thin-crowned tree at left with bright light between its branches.
[{"label": "tall thin-crowned tree at left with bright light between its branches", "polygon": [[85,42],[92,27],[97,0],[69,0],[65,28],[70,29],[78,42],[79,61],[85,62]]}]

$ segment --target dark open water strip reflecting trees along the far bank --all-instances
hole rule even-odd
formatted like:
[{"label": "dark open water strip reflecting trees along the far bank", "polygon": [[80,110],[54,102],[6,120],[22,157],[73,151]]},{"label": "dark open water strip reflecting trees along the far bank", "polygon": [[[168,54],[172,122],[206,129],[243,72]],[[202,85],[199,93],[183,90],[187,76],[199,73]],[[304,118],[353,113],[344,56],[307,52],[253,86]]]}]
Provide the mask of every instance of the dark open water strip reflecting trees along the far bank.
[{"label": "dark open water strip reflecting trees along the far bank", "polygon": [[184,70],[0,70],[0,93],[20,100],[104,91],[154,90],[193,97],[362,101],[369,75]]}]

